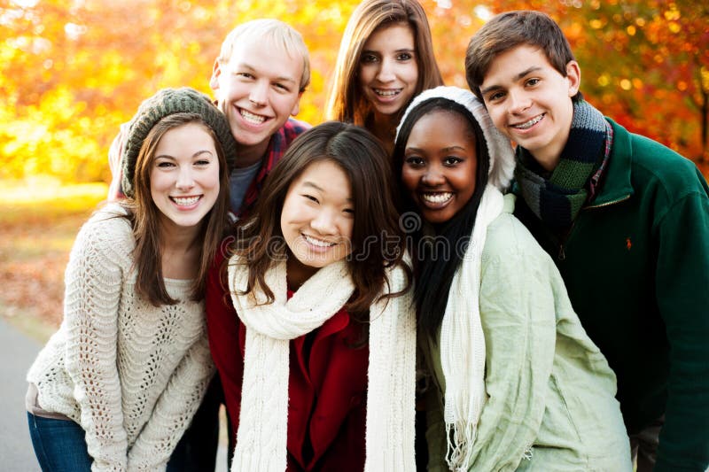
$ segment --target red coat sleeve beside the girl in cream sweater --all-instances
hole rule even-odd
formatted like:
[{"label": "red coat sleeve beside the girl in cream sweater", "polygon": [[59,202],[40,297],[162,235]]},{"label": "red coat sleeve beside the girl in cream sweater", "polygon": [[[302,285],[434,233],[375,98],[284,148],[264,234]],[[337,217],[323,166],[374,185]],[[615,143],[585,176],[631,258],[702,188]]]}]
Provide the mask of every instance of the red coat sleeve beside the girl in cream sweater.
[{"label": "red coat sleeve beside the girl in cream sweater", "polygon": [[224,402],[232,425],[232,432],[236,435],[238,414],[241,409],[244,358],[239,342],[240,322],[237,312],[231,304],[226,281],[224,281],[224,286],[220,281],[220,267],[224,259],[223,251],[218,251],[206,278],[206,330],[214,366],[216,366],[222,381]]}]

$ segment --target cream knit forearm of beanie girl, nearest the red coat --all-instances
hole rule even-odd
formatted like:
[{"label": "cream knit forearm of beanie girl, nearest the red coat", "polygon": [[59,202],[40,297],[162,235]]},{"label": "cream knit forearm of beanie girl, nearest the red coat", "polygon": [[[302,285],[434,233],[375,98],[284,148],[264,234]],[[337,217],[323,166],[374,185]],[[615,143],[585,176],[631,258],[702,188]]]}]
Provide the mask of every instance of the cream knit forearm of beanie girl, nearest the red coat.
[{"label": "cream knit forearm of beanie girl, nearest the red coat", "polygon": [[[201,316],[202,313],[199,313]],[[128,454],[129,470],[165,470],[214,374],[206,334],[191,345]]]}]

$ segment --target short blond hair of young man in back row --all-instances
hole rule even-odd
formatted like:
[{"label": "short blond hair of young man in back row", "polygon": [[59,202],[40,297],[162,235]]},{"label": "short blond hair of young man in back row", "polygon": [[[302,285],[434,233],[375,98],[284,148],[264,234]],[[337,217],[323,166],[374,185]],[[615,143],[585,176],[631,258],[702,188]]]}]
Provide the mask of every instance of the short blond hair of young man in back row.
[{"label": "short blond hair of young man in back row", "polygon": [[300,35],[290,25],[277,19],[253,19],[235,27],[222,43],[222,50],[216,59],[220,65],[229,64],[234,46],[238,42],[259,41],[269,42],[291,57],[303,58],[303,74],[300,76],[300,92],[305,91],[310,83],[310,54],[308,46]]}]

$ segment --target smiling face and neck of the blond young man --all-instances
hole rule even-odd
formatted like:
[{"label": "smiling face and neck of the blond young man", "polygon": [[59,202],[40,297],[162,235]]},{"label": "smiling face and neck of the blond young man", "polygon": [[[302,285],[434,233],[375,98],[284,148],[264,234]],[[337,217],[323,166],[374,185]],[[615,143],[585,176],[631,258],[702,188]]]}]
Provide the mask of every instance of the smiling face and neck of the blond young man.
[{"label": "smiling face and neck of the blond young man", "polygon": [[214,64],[210,85],[239,145],[239,166],[261,159],[271,135],[297,114],[303,58],[268,41],[235,43],[228,62]]}]

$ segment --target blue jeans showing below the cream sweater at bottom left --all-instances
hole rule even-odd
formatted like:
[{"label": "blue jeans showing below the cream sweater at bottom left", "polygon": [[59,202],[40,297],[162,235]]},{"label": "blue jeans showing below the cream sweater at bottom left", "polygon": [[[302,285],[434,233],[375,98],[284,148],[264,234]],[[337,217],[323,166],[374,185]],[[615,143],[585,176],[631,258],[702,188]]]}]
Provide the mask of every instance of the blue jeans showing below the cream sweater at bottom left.
[{"label": "blue jeans showing below the cream sweater at bottom left", "polygon": [[75,422],[27,413],[29,436],[43,472],[90,472],[93,460],[86,450],[81,426]]}]

